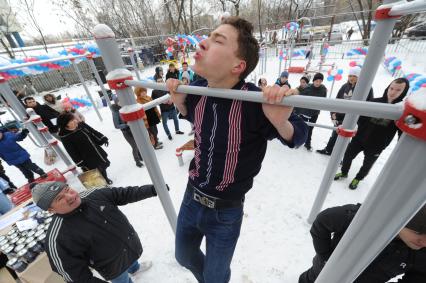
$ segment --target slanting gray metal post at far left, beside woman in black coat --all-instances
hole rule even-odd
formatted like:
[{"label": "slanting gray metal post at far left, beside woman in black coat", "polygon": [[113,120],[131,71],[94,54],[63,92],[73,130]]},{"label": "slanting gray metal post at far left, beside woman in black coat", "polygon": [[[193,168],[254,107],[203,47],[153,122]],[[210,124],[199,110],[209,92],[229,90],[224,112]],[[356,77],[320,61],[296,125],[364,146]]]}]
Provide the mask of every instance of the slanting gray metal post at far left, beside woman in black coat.
[{"label": "slanting gray metal post at far left, beside woman in black coat", "polygon": [[[20,120],[27,120],[27,112],[25,111],[24,106],[19,102],[18,98],[13,94],[12,89],[10,88],[7,81],[3,78],[0,78],[0,92],[5,96],[6,101],[12,106],[12,109],[20,116]],[[68,157],[68,155],[62,150],[62,148],[58,145],[58,141],[55,140],[52,135],[47,131],[42,134],[39,130],[41,128],[46,128],[43,123],[40,123],[40,128],[37,127],[34,123],[25,123],[27,129],[31,132],[31,134],[36,138],[37,142],[42,147],[52,146],[53,150],[58,154],[58,156],[64,161],[67,166],[67,171],[72,171],[74,175],[77,175],[78,172],[74,163]]]}]

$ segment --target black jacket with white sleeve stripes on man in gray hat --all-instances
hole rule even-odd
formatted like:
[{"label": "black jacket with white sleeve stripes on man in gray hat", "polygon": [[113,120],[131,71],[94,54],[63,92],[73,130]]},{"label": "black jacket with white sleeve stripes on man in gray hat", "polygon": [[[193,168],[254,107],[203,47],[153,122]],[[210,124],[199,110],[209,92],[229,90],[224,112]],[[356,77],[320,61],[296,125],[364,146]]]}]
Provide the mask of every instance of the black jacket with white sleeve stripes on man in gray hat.
[{"label": "black jacket with white sleeve stripes on man in gray hat", "polygon": [[111,280],[142,255],[136,231],[117,206],[155,195],[152,185],[84,191],[81,205],[69,214],[53,216],[47,231],[50,266],[66,282],[105,282],[89,267]]}]

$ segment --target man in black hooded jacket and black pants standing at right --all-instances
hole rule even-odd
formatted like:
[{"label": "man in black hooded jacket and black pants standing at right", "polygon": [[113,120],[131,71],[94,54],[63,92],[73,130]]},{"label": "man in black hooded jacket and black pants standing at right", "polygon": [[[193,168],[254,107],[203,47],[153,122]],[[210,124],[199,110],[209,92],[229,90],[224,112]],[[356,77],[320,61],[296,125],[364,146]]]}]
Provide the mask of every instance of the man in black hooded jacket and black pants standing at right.
[{"label": "man in black hooded jacket and black pants standing at right", "polygon": [[[407,95],[410,83],[405,78],[398,78],[391,82],[385,89],[383,96],[375,98],[372,102],[395,104],[401,102]],[[334,180],[348,177],[352,160],[360,153],[364,152],[364,161],[358,174],[349,184],[349,188],[355,190],[359,182],[367,176],[374,162],[379,158],[380,153],[391,143],[395,134],[401,131],[395,125],[395,121],[382,118],[371,118],[361,116],[358,120],[358,130],[349,143],[341,172],[337,173]]]}]

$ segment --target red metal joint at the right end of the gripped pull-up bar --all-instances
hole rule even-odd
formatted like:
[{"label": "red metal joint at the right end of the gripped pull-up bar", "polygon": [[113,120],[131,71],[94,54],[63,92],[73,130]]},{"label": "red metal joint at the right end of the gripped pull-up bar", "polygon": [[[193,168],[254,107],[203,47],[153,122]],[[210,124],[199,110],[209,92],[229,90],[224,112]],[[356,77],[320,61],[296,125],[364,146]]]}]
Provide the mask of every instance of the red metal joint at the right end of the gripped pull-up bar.
[{"label": "red metal joint at the right end of the gripped pull-up bar", "polygon": [[404,112],[396,126],[407,135],[426,141],[426,108],[416,107],[411,96],[405,101]]}]

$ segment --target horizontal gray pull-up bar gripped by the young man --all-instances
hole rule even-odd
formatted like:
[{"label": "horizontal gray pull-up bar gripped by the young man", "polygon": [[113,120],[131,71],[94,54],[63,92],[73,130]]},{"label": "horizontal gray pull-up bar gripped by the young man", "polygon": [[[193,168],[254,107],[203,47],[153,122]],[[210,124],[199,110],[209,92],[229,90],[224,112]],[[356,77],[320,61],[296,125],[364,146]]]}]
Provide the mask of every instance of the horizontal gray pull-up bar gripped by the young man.
[{"label": "horizontal gray pull-up bar gripped by the young man", "polygon": [[[159,89],[168,91],[166,84],[154,83],[148,81],[135,81],[126,80],[125,84],[128,86],[141,86],[151,89]],[[221,88],[207,88],[197,86],[184,86],[180,85],[177,89],[178,92],[188,93],[194,95],[205,95],[219,98],[244,100],[258,103],[267,103],[258,91],[243,91],[233,89]],[[352,113],[362,116],[385,118],[391,120],[398,120],[403,112],[402,105],[385,104],[376,102],[345,100],[345,99],[329,99],[322,97],[292,95],[287,96],[282,102],[277,103],[285,106],[296,106],[316,110],[335,111],[340,113]]]}]

